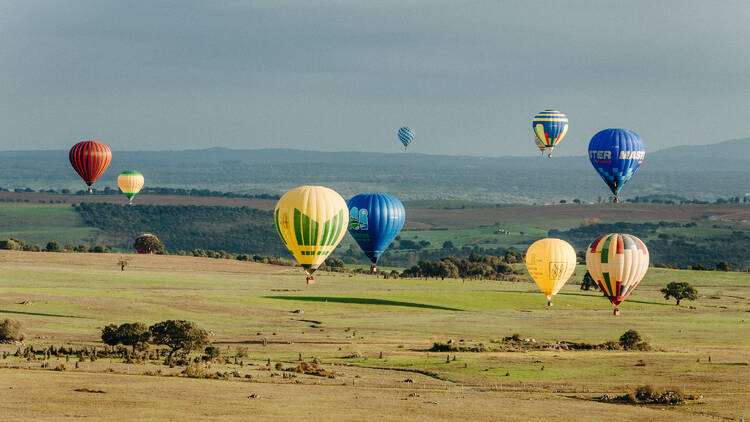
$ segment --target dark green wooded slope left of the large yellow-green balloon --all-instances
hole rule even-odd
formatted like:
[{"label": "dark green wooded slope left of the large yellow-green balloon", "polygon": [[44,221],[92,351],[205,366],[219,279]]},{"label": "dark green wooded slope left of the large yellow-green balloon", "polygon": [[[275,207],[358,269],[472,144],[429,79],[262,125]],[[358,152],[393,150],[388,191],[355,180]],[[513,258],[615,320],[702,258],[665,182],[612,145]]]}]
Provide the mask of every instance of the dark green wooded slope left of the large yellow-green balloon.
[{"label": "dark green wooded slope left of the large yellow-green balloon", "polygon": [[291,257],[279,240],[271,211],[248,207],[81,203],[75,206],[86,225],[129,249],[141,233],[154,233],[170,253],[196,248],[229,253]]}]

